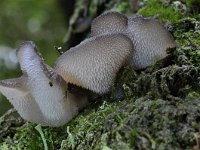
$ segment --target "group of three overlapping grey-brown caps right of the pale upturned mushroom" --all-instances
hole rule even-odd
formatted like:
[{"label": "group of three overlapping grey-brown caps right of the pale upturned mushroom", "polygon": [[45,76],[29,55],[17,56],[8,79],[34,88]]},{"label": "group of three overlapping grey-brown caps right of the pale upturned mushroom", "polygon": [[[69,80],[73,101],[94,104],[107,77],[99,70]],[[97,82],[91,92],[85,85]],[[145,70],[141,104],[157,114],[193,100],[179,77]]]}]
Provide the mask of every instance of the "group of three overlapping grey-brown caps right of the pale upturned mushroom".
[{"label": "group of three overlapping grey-brown caps right of the pale upturned mushroom", "polygon": [[55,70],[65,81],[103,94],[123,66],[144,69],[174,47],[173,37],[156,20],[108,12],[94,19],[90,38],[58,58]]}]

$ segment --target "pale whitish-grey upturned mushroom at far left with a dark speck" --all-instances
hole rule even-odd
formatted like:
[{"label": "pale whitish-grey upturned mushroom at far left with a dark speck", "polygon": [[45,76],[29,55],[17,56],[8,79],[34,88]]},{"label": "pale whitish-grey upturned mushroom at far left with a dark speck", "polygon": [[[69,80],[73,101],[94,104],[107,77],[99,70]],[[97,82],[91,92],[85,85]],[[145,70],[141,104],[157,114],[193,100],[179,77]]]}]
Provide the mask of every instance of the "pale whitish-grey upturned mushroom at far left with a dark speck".
[{"label": "pale whitish-grey upturned mushroom at far left with a dark speck", "polygon": [[67,83],[44,64],[35,44],[24,42],[17,50],[23,76],[0,81],[0,92],[27,121],[59,126],[78,114],[86,95],[71,94]]}]

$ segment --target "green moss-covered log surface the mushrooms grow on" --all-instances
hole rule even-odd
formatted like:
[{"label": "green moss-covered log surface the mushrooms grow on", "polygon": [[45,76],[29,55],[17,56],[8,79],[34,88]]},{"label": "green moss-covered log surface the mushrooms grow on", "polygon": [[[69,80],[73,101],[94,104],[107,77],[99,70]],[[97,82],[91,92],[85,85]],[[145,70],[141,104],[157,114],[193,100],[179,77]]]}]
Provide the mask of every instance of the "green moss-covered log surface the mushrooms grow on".
[{"label": "green moss-covered log surface the mushrooms grow on", "polygon": [[[112,10],[130,13],[128,2],[117,3]],[[195,0],[182,1],[182,7],[177,7],[175,1],[144,1],[137,14],[157,17],[173,34],[178,48],[145,70],[125,68],[118,79],[122,100],[115,99],[113,86],[110,94],[91,102],[65,126],[37,126],[36,130],[35,124],[6,114],[0,119],[0,149],[44,149],[44,145],[46,149],[80,150],[200,149],[200,15],[196,4]]]}]

